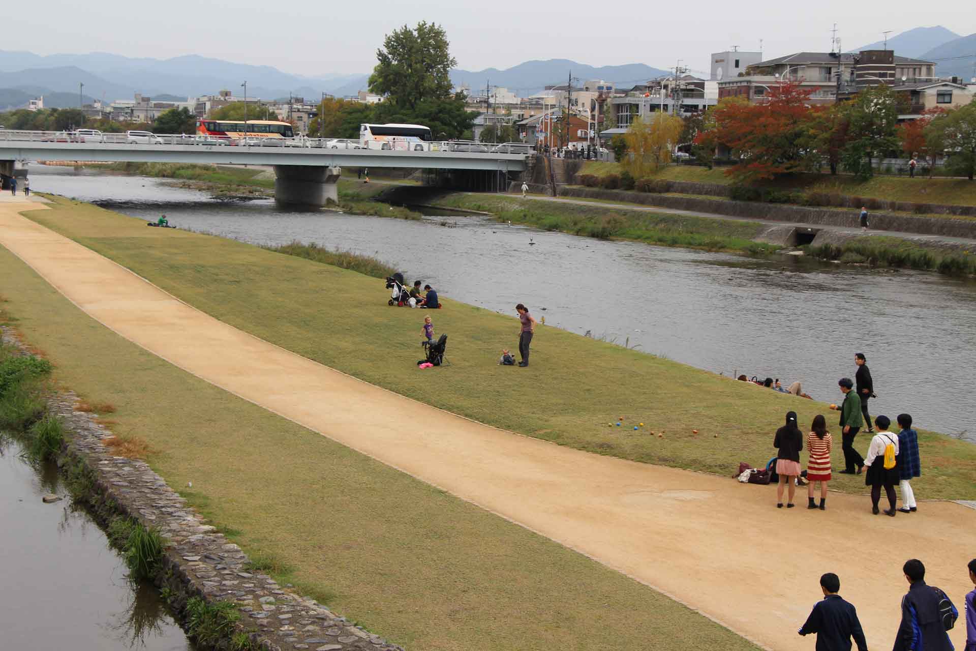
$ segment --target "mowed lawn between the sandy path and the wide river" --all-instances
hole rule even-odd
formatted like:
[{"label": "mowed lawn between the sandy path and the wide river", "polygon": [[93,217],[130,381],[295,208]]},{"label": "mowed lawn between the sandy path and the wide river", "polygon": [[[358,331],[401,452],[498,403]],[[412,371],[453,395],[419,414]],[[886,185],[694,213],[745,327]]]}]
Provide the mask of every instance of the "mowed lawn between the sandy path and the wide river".
[{"label": "mowed lawn between the sandy path and the wide river", "polygon": [[[499,366],[501,349],[517,347],[517,319],[453,302],[446,298],[450,288],[438,288],[445,308],[432,314],[388,307],[380,279],[241,242],[147,228],[64,200],[27,215],[266,341],[473,420],[562,445],[731,477],[739,462],[755,466],[775,454],[773,435],[787,411],[796,411],[803,427],[818,413],[836,423],[825,403],[545,326],[536,331],[532,366]],[[428,314],[436,333],[449,336],[451,365],[420,371],[420,329]],[[619,417],[625,427],[607,426]],[[641,422],[646,427],[631,428]],[[859,439],[866,450],[867,437]],[[919,494],[976,497],[976,446],[929,432],[920,445]],[[831,485],[865,491],[857,475],[837,475]]]}]

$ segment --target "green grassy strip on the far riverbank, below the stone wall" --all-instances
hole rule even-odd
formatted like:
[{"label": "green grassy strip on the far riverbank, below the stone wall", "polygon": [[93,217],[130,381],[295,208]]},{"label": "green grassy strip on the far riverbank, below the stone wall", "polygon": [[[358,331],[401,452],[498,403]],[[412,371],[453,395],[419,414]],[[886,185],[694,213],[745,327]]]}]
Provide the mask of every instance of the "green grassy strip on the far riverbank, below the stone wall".
[{"label": "green grassy strip on the far riverbank, below the stone wall", "polygon": [[438,208],[491,213],[498,222],[527,224],[587,237],[620,238],[662,246],[753,255],[779,248],[752,241],[763,228],[762,224],[756,222],[622,210],[602,206],[595,201],[591,205],[547,203],[505,194],[445,192],[427,187],[391,188],[383,194],[382,199],[393,203],[428,204]]}]

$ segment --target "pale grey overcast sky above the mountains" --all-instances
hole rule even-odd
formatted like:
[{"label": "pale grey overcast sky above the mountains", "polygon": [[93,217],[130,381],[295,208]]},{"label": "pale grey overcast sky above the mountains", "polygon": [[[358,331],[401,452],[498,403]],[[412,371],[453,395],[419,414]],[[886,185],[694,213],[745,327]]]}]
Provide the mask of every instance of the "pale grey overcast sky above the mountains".
[{"label": "pale grey overcast sky above the mountains", "polygon": [[[593,15],[592,8],[600,10]],[[971,0],[658,3],[649,0],[473,0],[267,2],[170,0],[83,3],[45,0],[6,12],[0,49],[36,54],[110,52],[167,59],[198,54],[273,65],[307,75],[369,72],[388,31],[419,20],[447,30],[458,66],[506,68],[533,59],[591,65],[647,63],[709,70],[709,55],[730,46],[766,58],[828,51],[837,23],[845,50],[916,26],[976,32]],[[882,17],[882,18],[878,18]]]}]

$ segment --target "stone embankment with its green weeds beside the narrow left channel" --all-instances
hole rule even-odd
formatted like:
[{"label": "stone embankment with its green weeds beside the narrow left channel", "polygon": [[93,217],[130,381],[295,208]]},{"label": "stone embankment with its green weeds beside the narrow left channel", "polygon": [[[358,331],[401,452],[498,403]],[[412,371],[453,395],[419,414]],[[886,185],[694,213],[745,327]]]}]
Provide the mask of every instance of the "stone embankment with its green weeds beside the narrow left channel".
[{"label": "stone embankment with its green weeds beside the narrow left channel", "polygon": [[119,456],[126,446],[113,445],[93,408],[54,388],[48,360],[9,326],[0,336],[0,431],[19,437],[31,459],[58,462],[74,503],[121,551],[128,578],[154,583],[199,648],[283,649],[311,639],[336,651],[402,651],[264,574],[266,562],[205,524],[145,462]]}]

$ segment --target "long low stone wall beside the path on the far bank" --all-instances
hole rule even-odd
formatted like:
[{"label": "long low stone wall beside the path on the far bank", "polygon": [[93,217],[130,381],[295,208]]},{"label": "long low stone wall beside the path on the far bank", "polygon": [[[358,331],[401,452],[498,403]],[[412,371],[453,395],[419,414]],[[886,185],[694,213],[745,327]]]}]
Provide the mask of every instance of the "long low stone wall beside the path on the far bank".
[{"label": "long low stone wall beside the path on the far bank", "polygon": [[[559,187],[559,196],[606,199],[660,206],[690,212],[709,213],[728,217],[774,222],[793,222],[799,224],[823,224],[834,226],[858,226],[858,211],[842,211],[829,208],[808,208],[786,204],[755,203],[752,201],[731,201],[707,197],[680,196],[673,194],[653,194],[627,190],[605,190],[595,187]],[[914,215],[895,215],[891,213],[871,213],[873,230],[895,230],[923,235],[947,235],[951,237],[976,237],[976,220],[963,220]]]}]

